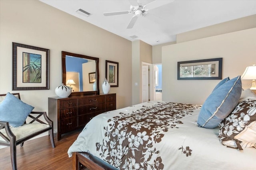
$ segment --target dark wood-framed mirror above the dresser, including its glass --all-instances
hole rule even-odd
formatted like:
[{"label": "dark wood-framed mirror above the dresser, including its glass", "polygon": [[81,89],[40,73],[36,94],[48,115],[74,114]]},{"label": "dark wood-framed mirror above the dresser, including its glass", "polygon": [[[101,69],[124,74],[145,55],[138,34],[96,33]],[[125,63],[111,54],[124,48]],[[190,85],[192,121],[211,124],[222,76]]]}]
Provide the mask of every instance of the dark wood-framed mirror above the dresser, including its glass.
[{"label": "dark wood-framed mirror above the dresser, including its glass", "polygon": [[100,94],[99,58],[61,51],[62,83],[72,87],[73,95]]}]

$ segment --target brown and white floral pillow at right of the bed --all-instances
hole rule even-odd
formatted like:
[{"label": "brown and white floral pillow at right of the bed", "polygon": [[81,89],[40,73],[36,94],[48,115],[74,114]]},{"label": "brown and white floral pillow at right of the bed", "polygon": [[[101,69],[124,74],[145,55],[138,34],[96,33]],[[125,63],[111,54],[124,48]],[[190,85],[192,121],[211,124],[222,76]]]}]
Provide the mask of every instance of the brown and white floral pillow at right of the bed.
[{"label": "brown and white floral pillow at right of the bed", "polygon": [[219,127],[219,139],[223,145],[239,150],[256,147],[256,98],[238,103]]}]

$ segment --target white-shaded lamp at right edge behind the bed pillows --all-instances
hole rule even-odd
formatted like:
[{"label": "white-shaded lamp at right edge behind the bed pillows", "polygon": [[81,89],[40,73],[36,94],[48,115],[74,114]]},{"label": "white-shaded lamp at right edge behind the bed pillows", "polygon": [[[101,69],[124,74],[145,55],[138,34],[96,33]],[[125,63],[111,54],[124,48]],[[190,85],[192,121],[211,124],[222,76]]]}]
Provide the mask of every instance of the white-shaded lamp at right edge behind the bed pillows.
[{"label": "white-shaded lamp at right edge behind the bed pillows", "polygon": [[251,90],[256,90],[256,66],[255,63],[253,63],[252,66],[246,67],[243,75],[241,76],[244,80],[252,80],[252,87]]}]

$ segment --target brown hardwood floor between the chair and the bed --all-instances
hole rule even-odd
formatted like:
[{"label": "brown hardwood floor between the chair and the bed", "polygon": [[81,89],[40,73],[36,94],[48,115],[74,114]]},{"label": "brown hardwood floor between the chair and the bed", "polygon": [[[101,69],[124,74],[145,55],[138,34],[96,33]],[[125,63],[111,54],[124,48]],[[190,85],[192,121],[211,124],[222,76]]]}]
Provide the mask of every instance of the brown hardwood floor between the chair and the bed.
[{"label": "brown hardwood floor between the chair and the bed", "polygon": [[[76,140],[82,129],[63,134],[55,140],[52,148],[50,137],[43,136],[17,146],[18,170],[72,170],[72,158],[68,158],[68,148]],[[0,149],[0,170],[12,170],[10,147]]]}]

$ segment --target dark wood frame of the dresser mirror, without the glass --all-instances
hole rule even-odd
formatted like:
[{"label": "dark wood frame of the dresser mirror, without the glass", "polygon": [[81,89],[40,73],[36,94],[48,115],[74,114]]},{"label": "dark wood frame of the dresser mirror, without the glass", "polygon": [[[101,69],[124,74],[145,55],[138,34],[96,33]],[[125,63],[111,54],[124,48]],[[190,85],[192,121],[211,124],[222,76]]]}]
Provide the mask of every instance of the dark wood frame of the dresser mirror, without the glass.
[{"label": "dark wood frame of the dresser mirror, without the glass", "polygon": [[99,87],[99,58],[97,57],[90,57],[87,55],[82,54],[76,54],[76,53],[70,53],[66,51],[61,51],[61,61],[62,61],[62,83],[66,85],[66,55],[74,56],[74,57],[80,57],[84,59],[90,59],[94,60],[96,63],[96,81],[97,81],[97,91],[80,91],[80,92],[72,92],[70,96],[75,95],[99,95],[100,94],[100,87]]}]

